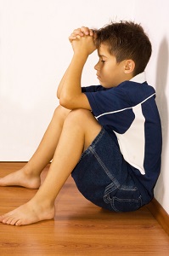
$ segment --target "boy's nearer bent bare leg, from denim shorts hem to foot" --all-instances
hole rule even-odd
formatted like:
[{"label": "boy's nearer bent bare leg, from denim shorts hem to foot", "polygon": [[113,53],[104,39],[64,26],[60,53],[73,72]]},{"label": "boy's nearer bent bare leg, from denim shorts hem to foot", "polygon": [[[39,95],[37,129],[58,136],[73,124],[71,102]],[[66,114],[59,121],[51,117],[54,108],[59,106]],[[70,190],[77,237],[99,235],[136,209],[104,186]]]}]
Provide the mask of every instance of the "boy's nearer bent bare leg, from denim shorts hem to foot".
[{"label": "boy's nearer bent bare leg, from denim shorts hem to foot", "polygon": [[101,131],[93,114],[85,109],[72,111],[65,124],[48,175],[37,194],[25,205],[0,217],[3,224],[32,224],[54,218],[54,201],[67,177],[76,166],[83,150]]}]

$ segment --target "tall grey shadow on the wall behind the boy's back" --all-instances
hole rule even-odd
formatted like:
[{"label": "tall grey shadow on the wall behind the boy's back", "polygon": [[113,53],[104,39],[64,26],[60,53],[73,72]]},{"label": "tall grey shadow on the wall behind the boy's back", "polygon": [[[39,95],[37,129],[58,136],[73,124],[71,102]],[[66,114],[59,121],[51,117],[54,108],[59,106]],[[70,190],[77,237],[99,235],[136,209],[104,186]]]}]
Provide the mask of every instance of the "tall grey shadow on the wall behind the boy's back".
[{"label": "tall grey shadow on the wall behind the boy's back", "polygon": [[[166,38],[163,38],[160,44],[159,53],[157,56],[157,68],[156,68],[156,102],[161,115],[161,125],[162,125],[162,137],[163,137],[163,147],[162,147],[162,163],[164,159],[167,159],[166,145],[168,143],[168,109],[167,109],[167,96],[166,96],[166,82],[168,75],[168,42]],[[163,171],[163,164],[161,166],[161,171]],[[164,172],[161,172],[159,177],[157,187],[158,187],[158,197],[163,201],[165,194],[164,191]],[[158,186],[159,184],[159,186]]]}]

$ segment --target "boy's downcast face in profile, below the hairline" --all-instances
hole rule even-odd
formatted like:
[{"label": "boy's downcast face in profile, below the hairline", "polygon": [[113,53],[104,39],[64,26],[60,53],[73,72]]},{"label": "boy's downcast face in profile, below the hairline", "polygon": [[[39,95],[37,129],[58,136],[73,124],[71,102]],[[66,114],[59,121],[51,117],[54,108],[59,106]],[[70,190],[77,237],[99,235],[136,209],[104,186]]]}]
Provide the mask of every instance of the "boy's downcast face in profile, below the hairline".
[{"label": "boy's downcast face in profile, below the hairline", "polygon": [[98,49],[99,62],[95,65],[100,84],[105,88],[115,87],[126,80],[124,68],[126,61],[116,62],[115,55],[110,55],[107,44]]}]

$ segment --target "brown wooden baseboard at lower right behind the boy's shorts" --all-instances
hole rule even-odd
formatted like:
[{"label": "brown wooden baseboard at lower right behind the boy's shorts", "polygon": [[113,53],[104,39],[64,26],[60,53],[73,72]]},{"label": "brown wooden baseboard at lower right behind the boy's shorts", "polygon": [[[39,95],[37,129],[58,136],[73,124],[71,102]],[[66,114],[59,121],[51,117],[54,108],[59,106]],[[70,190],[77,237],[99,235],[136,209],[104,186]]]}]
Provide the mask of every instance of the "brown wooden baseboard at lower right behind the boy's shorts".
[{"label": "brown wooden baseboard at lower right behind the boy's shorts", "polygon": [[163,228],[163,230],[166,231],[167,235],[169,236],[169,215],[164,210],[164,208],[161,207],[161,204],[154,198],[152,201],[149,202],[147,208],[158,221],[158,223],[161,224],[161,227]]}]

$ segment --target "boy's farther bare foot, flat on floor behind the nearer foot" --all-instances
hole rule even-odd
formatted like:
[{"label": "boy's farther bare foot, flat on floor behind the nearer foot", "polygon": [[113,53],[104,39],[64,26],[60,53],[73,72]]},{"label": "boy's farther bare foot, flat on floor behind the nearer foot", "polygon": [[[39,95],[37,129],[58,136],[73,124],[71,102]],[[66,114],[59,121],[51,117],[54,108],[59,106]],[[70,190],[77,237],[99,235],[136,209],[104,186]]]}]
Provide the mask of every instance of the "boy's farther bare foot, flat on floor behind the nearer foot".
[{"label": "boy's farther bare foot, flat on floor behind the nearer foot", "polygon": [[12,172],[5,177],[0,178],[0,186],[21,186],[28,189],[38,189],[41,180],[39,176],[33,175],[31,172],[26,172],[25,168],[17,172]]}]

